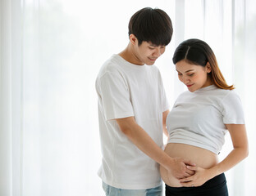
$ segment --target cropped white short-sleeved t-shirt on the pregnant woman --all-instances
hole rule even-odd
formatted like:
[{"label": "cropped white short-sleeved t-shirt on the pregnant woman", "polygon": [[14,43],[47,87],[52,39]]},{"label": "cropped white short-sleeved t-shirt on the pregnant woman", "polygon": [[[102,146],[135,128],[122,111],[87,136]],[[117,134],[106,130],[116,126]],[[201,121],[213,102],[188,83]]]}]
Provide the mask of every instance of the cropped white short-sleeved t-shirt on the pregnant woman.
[{"label": "cropped white short-sleeved t-shirt on the pregnant woman", "polygon": [[182,143],[219,154],[225,142],[225,124],[245,124],[239,96],[214,85],[185,91],[167,116],[168,143]]}]

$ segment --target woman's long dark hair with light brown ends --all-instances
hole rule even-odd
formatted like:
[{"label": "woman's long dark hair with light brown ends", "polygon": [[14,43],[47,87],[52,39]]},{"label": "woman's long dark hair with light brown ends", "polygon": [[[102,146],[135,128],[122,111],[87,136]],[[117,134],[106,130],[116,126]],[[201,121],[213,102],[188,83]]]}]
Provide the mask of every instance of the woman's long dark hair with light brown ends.
[{"label": "woman's long dark hair with light brown ends", "polygon": [[208,73],[216,87],[222,89],[232,90],[235,87],[233,85],[228,86],[226,80],[222,75],[221,70],[217,65],[216,57],[211,47],[206,42],[199,39],[188,39],[176,48],[172,61],[174,64],[180,60],[185,60],[189,64],[201,65],[205,67],[209,62],[212,71]]}]

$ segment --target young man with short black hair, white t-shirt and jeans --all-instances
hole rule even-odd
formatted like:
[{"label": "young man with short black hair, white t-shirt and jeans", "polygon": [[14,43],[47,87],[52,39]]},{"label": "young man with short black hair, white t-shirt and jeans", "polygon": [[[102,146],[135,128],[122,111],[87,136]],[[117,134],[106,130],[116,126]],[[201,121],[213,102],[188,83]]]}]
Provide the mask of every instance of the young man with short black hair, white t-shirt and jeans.
[{"label": "young man with short black hair, white t-shirt and jeans", "polygon": [[169,112],[162,78],[154,62],[171,42],[167,13],[149,7],[129,23],[130,42],[98,73],[99,131],[103,153],[98,176],[106,195],[162,195],[159,164],[177,178],[190,176],[181,158],[162,150]]}]

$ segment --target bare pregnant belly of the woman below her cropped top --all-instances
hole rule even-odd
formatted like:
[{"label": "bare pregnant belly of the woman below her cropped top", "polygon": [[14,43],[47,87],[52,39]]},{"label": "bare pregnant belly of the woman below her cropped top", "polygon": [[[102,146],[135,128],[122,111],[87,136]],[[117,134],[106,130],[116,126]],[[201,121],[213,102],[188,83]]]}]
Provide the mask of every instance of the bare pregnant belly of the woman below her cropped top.
[{"label": "bare pregnant belly of the woman below her cropped top", "polygon": [[[195,163],[196,166],[205,169],[211,168],[218,163],[217,154],[193,145],[169,143],[164,151],[171,158],[184,158]],[[171,175],[164,167],[160,167],[162,180],[171,187],[181,187],[180,181]]]}]

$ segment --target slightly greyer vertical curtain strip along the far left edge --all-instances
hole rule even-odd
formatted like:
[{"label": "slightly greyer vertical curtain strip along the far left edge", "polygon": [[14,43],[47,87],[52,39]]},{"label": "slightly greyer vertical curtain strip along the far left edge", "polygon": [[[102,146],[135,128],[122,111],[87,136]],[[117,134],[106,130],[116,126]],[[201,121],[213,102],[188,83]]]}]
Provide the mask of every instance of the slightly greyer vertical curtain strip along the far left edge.
[{"label": "slightly greyer vertical curtain strip along the far left edge", "polygon": [[21,195],[21,2],[1,2],[0,195]]}]

